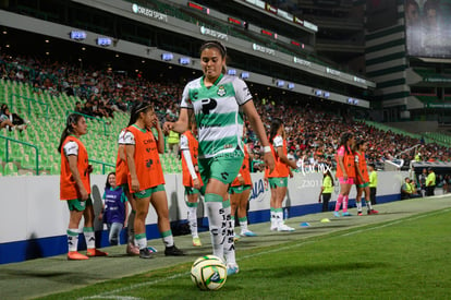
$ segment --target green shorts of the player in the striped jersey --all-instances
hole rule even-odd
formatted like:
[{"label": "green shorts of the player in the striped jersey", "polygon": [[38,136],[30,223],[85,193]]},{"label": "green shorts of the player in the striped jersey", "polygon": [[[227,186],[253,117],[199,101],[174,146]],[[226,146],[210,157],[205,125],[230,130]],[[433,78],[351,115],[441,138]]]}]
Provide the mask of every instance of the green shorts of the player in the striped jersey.
[{"label": "green shorts of the player in the striped jersey", "polygon": [[240,172],[243,159],[244,157],[242,155],[200,158],[198,160],[198,167],[204,184],[210,178],[215,178],[224,184],[232,183]]}]

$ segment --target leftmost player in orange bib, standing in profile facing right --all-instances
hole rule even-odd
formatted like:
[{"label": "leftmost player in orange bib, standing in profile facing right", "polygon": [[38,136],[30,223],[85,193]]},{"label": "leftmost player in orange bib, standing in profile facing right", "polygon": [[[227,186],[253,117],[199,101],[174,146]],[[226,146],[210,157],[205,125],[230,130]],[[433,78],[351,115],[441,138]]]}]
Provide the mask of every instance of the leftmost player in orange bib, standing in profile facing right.
[{"label": "leftmost player in orange bib, standing in profile facing right", "polygon": [[[58,152],[61,153],[60,199],[66,201],[70,212],[68,227],[68,260],[87,260],[88,256],[106,256],[107,253],[96,249],[94,235],[94,209],[90,200],[88,154],[80,141],[86,134],[87,124],[83,116],[71,113],[61,134]],[[78,225],[85,218],[86,255],[78,253]]]}]

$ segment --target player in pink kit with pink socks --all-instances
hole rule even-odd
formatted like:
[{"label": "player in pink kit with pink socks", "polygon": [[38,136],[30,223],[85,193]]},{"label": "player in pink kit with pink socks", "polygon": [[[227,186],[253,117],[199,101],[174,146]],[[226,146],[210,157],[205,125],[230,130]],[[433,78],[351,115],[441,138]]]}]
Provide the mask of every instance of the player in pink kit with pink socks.
[{"label": "player in pink kit with pink socks", "polygon": [[333,216],[340,217],[340,206],[343,204],[343,217],[352,216],[348,212],[348,200],[355,178],[355,157],[352,151],[355,137],[352,133],[345,132],[341,135],[340,145],[337,153],[337,178],[340,182],[340,194],[337,199]]}]

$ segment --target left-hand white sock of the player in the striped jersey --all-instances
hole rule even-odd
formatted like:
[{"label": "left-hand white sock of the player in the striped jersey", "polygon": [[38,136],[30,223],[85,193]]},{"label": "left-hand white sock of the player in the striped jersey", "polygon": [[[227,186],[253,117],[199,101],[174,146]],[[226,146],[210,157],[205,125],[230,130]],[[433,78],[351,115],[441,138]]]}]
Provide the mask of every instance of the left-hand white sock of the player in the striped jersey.
[{"label": "left-hand white sock of the player in the striped jersey", "polygon": [[214,255],[223,259],[223,228],[226,219],[222,208],[222,196],[214,193],[205,194],[205,207],[208,216]]}]

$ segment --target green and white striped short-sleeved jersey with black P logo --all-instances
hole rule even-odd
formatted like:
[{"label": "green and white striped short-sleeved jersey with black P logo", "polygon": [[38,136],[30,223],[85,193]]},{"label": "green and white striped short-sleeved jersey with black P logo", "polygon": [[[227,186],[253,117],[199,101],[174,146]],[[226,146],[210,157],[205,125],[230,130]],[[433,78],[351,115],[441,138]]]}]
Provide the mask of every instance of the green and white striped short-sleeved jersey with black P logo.
[{"label": "green and white striped short-sleeved jersey with black P logo", "polygon": [[182,108],[194,110],[198,129],[199,158],[243,153],[242,105],[252,99],[244,81],[220,75],[205,87],[204,76],[191,81],[183,91]]}]

